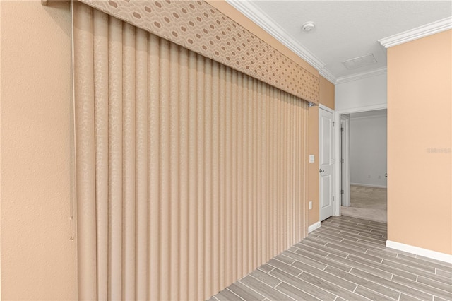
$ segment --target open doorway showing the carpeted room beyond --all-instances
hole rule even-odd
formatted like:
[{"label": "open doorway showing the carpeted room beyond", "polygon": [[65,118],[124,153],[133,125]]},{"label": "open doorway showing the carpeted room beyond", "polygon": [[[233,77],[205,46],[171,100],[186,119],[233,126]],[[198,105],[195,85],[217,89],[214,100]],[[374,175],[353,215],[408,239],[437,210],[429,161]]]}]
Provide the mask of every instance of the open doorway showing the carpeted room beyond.
[{"label": "open doorway showing the carpeted room beyond", "polygon": [[340,214],[387,223],[387,110],[337,117]]}]

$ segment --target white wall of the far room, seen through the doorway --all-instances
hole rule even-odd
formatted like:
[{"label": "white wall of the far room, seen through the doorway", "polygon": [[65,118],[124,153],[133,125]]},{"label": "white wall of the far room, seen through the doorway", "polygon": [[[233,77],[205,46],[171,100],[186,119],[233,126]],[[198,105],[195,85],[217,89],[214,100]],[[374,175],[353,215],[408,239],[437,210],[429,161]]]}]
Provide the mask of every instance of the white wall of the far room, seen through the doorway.
[{"label": "white wall of the far room, seen through the doorway", "polygon": [[386,114],[350,116],[351,184],[387,187],[387,120]]}]

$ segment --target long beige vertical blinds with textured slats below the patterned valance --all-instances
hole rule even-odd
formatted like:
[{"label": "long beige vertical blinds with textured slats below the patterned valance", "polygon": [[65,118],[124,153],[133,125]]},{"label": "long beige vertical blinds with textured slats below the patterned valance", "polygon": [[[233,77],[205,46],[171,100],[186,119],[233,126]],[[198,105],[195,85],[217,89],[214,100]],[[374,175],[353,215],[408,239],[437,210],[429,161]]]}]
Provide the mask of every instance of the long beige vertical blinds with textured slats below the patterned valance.
[{"label": "long beige vertical blinds with textured slats below the patterned valance", "polygon": [[307,102],[73,3],[78,297],[205,300],[307,234]]}]

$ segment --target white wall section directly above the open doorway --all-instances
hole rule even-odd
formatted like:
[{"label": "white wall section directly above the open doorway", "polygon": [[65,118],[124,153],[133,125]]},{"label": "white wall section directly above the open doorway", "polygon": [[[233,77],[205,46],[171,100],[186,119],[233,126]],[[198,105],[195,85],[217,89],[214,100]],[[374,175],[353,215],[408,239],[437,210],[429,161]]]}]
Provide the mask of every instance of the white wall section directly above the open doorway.
[{"label": "white wall section directly above the open doorway", "polygon": [[384,73],[335,85],[336,112],[359,112],[386,107],[387,78]]}]

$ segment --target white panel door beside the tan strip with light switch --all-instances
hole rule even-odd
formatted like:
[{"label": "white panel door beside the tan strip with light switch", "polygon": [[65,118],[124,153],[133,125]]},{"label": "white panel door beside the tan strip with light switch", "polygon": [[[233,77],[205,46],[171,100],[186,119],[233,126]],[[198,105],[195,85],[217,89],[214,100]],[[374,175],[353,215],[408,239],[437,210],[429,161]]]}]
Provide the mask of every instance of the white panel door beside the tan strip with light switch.
[{"label": "white panel door beside the tan strip with light switch", "polygon": [[319,107],[320,221],[334,210],[334,131],[333,111]]}]

